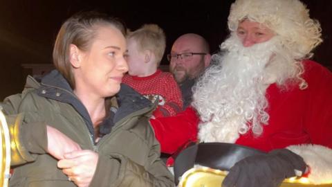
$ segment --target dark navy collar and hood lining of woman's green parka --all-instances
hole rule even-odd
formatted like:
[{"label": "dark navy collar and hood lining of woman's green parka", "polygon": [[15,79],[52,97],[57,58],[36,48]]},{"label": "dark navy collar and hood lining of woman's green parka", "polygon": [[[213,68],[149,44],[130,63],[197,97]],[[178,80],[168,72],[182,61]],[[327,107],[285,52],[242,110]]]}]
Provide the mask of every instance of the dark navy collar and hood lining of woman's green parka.
[{"label": "dark navy collar and hood lining of woman's green parka", "polygon": [[[37,94],[39,96],[72,105],[84,118],[91,135],[94,134],[93,123],[89,116],[89,112],[86,110],[86,107],[82,104],[79,98],[75,96],[73,89],[68,84],[64,76],[59,73],[59,71],[53,70],[45,75],[41,80],[41,84],[41,87],[37,90]],[[138,94],[138,92],[133,90],[127,84],[120,85],[120,91],[116,94],[116,98],[119,107],[111,107],[110,116],[105,118],[105,121],[102,123],[102,127],[100,127],[100,130],[103,131],[102,134],[111,132],[111,127],[118,123],[118,121],[122,120],[125,116],[145,108],[147,108],[147,111],[144,112],[149,112],[154,108],[154,105],[147,100],[147,98]],[[142,112],[138,112],[137,115],[142,115]]]}]

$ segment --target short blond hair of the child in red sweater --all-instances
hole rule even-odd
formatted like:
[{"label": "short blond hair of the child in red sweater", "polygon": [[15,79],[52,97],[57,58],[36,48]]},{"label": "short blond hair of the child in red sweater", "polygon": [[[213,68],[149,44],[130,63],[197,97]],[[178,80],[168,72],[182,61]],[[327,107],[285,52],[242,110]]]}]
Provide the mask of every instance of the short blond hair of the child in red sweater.
[{"label": "short blond hair of the child in red sweater", "polygon": [[162,28],[156,24],[145,24],[138,30],[128,33],[127,39],[135,39],[138,51],[149,50],[156,56],[157,65],[160,64],[166,48],[166,36]]}]

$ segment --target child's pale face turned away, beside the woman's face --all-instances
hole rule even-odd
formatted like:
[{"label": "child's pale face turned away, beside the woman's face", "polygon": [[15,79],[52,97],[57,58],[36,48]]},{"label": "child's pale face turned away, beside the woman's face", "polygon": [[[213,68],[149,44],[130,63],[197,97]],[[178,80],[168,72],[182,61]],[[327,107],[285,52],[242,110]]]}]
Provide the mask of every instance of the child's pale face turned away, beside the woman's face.
[{"label": "child's pale face turned away, beside the woman's face", "polygon": [[129,75],[137,76],[145,72],[145,54],[138,51],[138,45],[133,38],[127,39],[128,57],[127,62],[129,66]]}]

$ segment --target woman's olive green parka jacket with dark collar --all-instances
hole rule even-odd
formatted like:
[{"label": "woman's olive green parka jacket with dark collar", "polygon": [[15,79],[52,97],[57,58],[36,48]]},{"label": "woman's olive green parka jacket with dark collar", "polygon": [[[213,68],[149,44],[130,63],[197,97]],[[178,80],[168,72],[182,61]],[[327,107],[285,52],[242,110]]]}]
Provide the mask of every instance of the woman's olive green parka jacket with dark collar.
[{"label": "woman's olive green parka jacket with dark collar", "polygon": [[174,186],[173,177],[160,160],[160,145],[149,125],[154,109],[148,100],[122,84],[117,111],[105,134],[94,143],[91,118],[58,71],[39,83],[27,78],[22,94],[1,104],[10,125],[12,166],[10,186],[73,187],[57,159],[46,153],[46,125],[55,127],[83,150],[98,152],[98,165],[90,186]]}]

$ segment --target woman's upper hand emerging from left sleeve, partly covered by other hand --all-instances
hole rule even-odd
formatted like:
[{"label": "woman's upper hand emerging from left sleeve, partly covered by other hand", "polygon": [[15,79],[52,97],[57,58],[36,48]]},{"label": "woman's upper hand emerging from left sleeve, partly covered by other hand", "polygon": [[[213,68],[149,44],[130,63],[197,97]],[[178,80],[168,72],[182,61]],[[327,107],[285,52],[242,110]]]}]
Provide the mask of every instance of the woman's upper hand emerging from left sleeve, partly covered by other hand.
[{"label": "woman's upper hand emerging from left sleeve, partly covered by other hand", "polygon": [[48,153],[56,159],[64,159],[64,154],[67,152],[81,150],[80,145],[69,139],[62,132],[59,132],[59,130],[48,125],[46,126],[46,130]]}]

